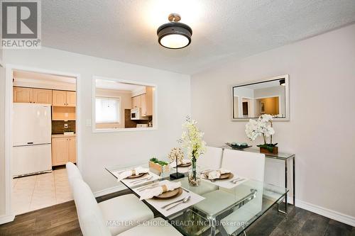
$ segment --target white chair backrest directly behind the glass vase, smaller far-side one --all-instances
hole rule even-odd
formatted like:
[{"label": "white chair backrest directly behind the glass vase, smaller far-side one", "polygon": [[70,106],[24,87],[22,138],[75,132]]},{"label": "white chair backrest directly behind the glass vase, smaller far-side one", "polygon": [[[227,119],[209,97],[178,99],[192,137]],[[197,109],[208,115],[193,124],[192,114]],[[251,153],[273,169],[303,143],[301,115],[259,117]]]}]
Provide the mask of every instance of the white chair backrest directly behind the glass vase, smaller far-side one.
[{"label": "white chair backrest directly behind the glass vase, smaller far-side one", "polygon": [[207,146],[206,149],[198,158],[197,164],[204,169],[219,169],[222,164],[222,148]]}]

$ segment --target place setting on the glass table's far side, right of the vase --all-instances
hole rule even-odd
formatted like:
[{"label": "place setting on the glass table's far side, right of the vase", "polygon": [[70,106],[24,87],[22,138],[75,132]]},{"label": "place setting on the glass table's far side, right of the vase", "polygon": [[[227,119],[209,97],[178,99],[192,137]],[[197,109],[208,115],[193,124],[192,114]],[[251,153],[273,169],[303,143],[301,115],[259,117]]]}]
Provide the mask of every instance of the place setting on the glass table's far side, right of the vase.
[{"label": "place setting on the glass table's far side, right of the vase", "polygon": [[228,169],[207,169],[200,174],[204,181],[209,181],[212,184],[221,186],[226,189],[234,188],[235,186],[238,186],[239,184],[242,184],[248,180],[247,178],[233,174]]}]

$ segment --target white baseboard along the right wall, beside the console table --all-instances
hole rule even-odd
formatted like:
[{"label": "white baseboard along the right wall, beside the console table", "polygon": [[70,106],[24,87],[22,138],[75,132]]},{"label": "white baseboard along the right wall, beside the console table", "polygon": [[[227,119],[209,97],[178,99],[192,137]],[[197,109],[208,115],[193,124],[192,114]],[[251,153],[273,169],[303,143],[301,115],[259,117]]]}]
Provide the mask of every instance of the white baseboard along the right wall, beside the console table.
[{"label": "white baseboard along the right wall, beside the console table", "polygon": [[319,215],[323,215],[327,218],[331,218],[333,220],[337,220],[346,225],[351,225],[355,227],[355,217],[351,215],[345,215],[343,213],[339,213],[335,210],[329,210],[327,208],[322,208],[321,206],[316,206],[311,203],[306,203],[304,201],[300,201],[296,199],[296,206],[305,210],[310,210],[313,213],[317,213]]}]

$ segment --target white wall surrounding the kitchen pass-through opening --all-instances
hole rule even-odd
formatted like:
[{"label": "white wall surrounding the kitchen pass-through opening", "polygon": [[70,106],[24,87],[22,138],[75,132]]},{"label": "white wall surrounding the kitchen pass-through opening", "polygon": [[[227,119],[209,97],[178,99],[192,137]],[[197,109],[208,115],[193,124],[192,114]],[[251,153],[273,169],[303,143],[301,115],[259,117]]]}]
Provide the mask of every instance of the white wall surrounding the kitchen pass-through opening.
[{"label": "white wall surrounding the kitchen pass-through opening", "polygon": [[[82,174],[92,191],[101,191],[117,182],[104,167],[114,164],[132,164],[139,160],[148,162],[153,155],[163,157],[181,135],[181,124],[190,114],[190,76],[141,67],[97,57],[89,57],[43,47],[41,50],[6,50],[4,62],[60,72],[81,74],[80,101],[82,117]],[[92,118],[92,76],[132,79],[157,85],[158,130],[121,133],[92,133],[86,119]],[[4,97],[4,80],[0,82],[1,100]],[[1,108],[1,129],[4,126]],[[4,132],[1,132],[1,135]],[[1,136],[2,138],[2,136]],[[4,140],[0,139],[0,145]],[[1,149],[2,152],[2,149]],[[2,173],[2,172],[1,172]],[[2,183],[0,183],[2,184]],[[3,193],[1,189],[0,193]]]}]

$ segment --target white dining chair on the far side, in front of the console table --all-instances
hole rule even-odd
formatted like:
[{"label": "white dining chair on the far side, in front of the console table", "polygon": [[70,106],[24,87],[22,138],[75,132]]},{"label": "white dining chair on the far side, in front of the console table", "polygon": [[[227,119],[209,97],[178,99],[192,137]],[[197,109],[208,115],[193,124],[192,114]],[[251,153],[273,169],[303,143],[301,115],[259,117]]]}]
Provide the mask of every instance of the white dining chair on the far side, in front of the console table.
[{"label": "white dining chair on the far side, in front of the console table", "polygon": [[[203,196],[206,199],[197,203],[197,208],[214,215],[251,193],[251,189],[255,189],[255,198],[247,202],[244,206],[241,206],[241,208],[236,208],[221,220],[222,224],[220,225],[226,226],[219,227],[219,231],[222,235],[231,235],[238,230],[239,227],[243,227],[244,222],[255,217],[262,209],[265,154],[224,150],[222,168],[229,169],[238,176],[256,180],[250,186],[248,182],[246,182],[234,189],[219,188],[217,191],[205,193]],[[219,199],[224,200],[218,201]]]}]

